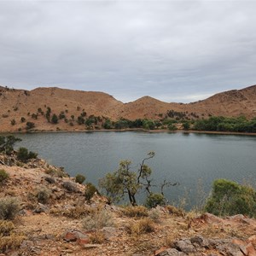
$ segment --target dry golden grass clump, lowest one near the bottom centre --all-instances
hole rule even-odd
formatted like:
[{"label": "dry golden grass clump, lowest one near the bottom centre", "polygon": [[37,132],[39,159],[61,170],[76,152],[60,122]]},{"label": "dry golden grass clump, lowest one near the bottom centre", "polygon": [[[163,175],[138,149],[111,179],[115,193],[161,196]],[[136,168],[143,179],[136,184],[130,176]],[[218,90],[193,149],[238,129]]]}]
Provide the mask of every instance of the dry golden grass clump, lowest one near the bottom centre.
[{"label": "dry golden grass clump, lowest one near the bottom centre", "polygon": [[154,222],[149,218],[143,218],[138,220],[136,223],[132,223],[128,227],[128,232],[131,235],[142,235],[151,233],[154,231]]}]

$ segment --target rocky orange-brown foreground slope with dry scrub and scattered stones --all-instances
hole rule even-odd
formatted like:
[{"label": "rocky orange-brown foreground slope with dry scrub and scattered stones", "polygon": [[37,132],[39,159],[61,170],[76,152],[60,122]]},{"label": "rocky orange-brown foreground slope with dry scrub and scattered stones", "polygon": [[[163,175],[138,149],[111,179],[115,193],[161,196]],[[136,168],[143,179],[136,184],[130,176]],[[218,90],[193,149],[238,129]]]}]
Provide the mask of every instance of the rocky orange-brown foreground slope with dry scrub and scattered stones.
[{"label": "rocky orange-brown foreground slope with dry scrub and scattered stones", "polygon": [[256,255],[253,218],[116,207],[40,159],[0,169],[0,255]]}]

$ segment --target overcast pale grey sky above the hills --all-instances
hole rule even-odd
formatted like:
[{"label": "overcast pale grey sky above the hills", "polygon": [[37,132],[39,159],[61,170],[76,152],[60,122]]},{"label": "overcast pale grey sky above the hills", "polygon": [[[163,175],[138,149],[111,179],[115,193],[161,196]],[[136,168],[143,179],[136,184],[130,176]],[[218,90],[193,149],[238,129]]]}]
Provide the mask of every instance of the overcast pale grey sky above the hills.
[{"label": "overcast pale grey sky above the hills", "polygon": [[256,84],[256,1],[0,1],[0,84],[194,102]]}]

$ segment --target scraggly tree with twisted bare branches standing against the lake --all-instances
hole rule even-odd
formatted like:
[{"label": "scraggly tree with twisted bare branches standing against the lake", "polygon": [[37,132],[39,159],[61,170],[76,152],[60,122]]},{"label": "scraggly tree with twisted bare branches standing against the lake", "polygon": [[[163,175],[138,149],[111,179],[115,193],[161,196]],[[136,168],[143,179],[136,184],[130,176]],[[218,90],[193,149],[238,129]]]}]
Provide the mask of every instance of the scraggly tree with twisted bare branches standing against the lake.
[{"label": "scraggly tree with twisted bare branches standing against the lake", "polygon": [[[128,199],[132,206],[137,205],[136,195],[142,189],[147,191],[148,197],[151,199],[151,205],[154,205],[152,199],[157,198],[159,204],[163,204],[166,201],[163,193],[164,186],[177,185],[177,183],[166,183],[166,181],[161,185],[161,196],[154,196],[155,194],[151,191],[151,187],[154,186],[150,179],[151,168],[145,164],[149,159],[154,158],[154,152],[149,152],[148,157],[144,158],[142,163],[139,164],[137,171],[131,170],[130,160],[121,160],[119,162],[119,169],[115,172],[108,172],[105,177],[103,177],[99,185],[102,189],[105,189],[107,195],[113,201],[120,201],[124,199],[125,195],[128,195]],[[161,201],[160,201],[161,197]]]}]

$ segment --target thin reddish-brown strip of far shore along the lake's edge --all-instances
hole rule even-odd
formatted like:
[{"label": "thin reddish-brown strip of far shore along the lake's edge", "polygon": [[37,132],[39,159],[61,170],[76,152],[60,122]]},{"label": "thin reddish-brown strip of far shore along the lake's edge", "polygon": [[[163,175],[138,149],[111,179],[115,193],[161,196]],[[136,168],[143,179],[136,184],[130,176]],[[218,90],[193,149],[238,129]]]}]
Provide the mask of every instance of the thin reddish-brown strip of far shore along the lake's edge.
[{"label": "thin reddish-brown strip of far shore along the lake's edge", "polygon": [[101,129],[101,130],[81,130],[81,131],[51,131],[51,130],[42,130],[42,131],[0,131],[0,135],[4,134],[26,134],[26,133],[66,133],[66,132],[126,132],[126,131],[137,131],[137,132],[146,132],[146,133],[200,133],[200,134],[218,134],[218,135],[242,135],[242,136],[256,136],[256,132],[235,132],[235,131],[195,131],[195,130],[176,130],[170,131],[168,129],[159,129],[159,130],[145,130],[143,128],[131,128],[131,129]]}]

